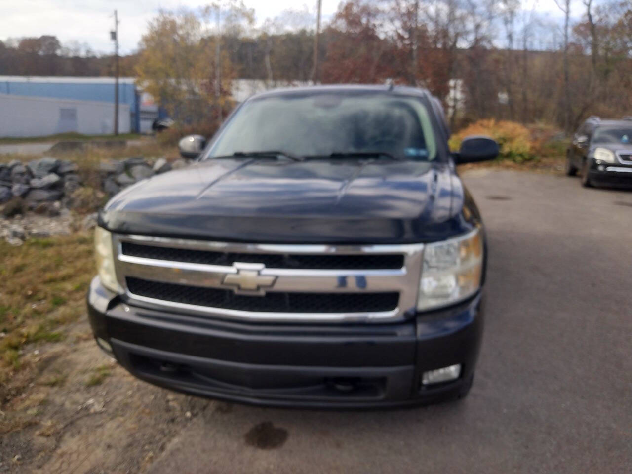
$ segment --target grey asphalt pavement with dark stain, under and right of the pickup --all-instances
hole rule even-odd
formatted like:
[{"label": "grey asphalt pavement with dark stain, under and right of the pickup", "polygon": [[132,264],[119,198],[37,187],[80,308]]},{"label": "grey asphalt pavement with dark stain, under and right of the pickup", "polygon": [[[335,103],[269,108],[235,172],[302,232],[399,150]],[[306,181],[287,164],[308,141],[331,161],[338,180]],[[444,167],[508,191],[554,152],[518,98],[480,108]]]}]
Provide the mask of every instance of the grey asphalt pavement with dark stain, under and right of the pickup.
[{"label": "grey asphalt pavement with dark stain, under and right of the pickup", "polygon": [[468,398],[343,412],[212,403],[149,472],[632,472],[632,192],[490,169],[465,183],[489,240]]}]

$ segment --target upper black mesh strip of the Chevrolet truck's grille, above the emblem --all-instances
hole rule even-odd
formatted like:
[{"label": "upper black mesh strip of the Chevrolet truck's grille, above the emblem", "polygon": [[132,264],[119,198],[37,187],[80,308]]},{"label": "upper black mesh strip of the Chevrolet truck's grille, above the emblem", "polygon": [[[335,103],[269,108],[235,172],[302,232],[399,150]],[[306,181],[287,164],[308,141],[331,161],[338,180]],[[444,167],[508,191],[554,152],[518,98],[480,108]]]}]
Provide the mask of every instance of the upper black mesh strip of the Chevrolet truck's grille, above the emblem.
[{"label": "upper black mesh strip of the Chevrolet truck's grille, above the emblem", "polygon": [[123,253],[131,257],[155,258],[172,262],[231,266],[233,262],[264,264],[267,268],[307,270],[399,269],[404,256],[398,254],[296,255],[287,253],[236,253],[157,247],[123,242]]}]

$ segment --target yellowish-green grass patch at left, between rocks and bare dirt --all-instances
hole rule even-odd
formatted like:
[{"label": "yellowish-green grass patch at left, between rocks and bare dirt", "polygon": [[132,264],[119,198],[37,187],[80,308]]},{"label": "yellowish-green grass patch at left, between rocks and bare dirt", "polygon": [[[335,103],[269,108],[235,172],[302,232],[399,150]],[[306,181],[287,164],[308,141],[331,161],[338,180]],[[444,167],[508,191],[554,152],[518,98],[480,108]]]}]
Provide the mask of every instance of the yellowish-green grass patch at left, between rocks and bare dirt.
[{"label": "yellowish-green grass patch at left, between rocks and bare dirt", "polygon": [[2,240],[0,255],[1,373],[20,368],[25,344],[64,339],[63,326],[84,311],[95,270],[87,233],[32,239],[18,247]]}]

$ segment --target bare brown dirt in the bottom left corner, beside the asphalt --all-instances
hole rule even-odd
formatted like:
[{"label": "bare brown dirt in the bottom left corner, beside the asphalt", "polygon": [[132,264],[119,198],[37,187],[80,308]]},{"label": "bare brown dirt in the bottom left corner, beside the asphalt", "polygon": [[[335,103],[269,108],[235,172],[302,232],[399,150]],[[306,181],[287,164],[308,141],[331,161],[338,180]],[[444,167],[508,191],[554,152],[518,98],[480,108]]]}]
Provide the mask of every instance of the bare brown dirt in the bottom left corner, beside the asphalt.
[{"label": "bare brown dirt in the bottom left corner, beside the asphalt", "polygon": [[83,319],[63,345],[24,349],[33,370],[1,407],[0,473],[142,472],[214,403],[135,379],[85,334]]}]

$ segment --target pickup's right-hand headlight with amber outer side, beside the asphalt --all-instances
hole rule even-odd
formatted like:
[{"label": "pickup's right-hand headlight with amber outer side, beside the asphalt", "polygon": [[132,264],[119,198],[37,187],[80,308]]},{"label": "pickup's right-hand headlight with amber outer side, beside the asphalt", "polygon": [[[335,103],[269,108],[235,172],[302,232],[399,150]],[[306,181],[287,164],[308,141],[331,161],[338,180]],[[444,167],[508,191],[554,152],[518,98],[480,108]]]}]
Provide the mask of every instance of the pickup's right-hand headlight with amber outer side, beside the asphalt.
[{"label": "pickup's right-hand headlight with amber outer side, beside the asphalt", "polygon": [[417,309],[446,306],[473,295],[480,288],[482,270],[483,241],[479,229],[426,245]]}]

